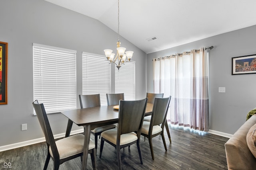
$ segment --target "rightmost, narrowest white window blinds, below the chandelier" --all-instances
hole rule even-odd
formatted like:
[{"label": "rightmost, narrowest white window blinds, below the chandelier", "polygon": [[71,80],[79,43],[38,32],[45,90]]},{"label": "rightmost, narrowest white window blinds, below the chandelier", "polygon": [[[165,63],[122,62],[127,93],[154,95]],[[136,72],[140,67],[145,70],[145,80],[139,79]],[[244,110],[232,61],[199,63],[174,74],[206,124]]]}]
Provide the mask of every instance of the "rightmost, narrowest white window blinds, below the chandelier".
[{"label": "rightmost, narrowest white window blinds, below the chandelier", "polygon": [[115,68],[115,93],[124,93],[124,100],[135,100],[135,63],[122,64]]}]

